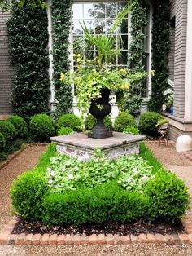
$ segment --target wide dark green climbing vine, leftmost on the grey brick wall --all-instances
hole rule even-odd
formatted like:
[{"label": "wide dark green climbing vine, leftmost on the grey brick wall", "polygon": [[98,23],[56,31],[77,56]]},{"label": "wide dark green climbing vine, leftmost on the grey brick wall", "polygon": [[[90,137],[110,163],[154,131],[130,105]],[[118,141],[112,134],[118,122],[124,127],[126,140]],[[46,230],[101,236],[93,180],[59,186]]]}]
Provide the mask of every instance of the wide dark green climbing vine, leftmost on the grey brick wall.
[{"label": "wide dark green climbing vine, leftmost on the grey brick wall", "polygon": [[25,120],[36,113],[49,113],[49,59],[46,9],[32,9],[13,2],[7,21],[11,60],[15,64],[11,103]]}]

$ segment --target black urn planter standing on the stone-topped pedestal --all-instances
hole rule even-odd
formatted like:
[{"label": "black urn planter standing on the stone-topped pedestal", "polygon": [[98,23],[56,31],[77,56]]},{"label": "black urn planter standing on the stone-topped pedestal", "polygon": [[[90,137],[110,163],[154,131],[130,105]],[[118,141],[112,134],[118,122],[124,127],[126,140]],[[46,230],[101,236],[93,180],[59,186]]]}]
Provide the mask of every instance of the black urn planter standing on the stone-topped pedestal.
[{"label": "black urn planter standing on the stone-topped pedestal", "polygon": [[113,136],[111,130],[107,129],[107,127],[104,125],[104,117],[108,116],[111,113],[109,95],[109,89],[102,89],[101,98],[93,100],[90,105],[89,113],[91,113],[91,115],[93,115],[97,119],[97,124],[88,134],[89,138],[105,139]]}]

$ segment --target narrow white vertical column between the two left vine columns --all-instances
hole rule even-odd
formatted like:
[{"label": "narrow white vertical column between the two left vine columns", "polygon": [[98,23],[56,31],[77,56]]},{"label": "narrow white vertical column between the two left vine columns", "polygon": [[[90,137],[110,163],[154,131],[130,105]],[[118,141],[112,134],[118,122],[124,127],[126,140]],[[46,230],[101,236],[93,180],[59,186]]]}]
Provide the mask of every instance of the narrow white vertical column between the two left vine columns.
[{"label": "narrow white vertical column between the two left vine columns", "polygon": [[50,77],[50,110],[54,110],[54,100],[55,100],[55,87],[53,82],[53,38],[52,38],[52,11],[51,11],[51,0],[46,1],[47,4],[47,18],[48,18],[48,34],[49,34],[49,42],[48,42],[48,51],[49,51],[49,60],[50,60],[50,67],[49,67],[49,77]]}]

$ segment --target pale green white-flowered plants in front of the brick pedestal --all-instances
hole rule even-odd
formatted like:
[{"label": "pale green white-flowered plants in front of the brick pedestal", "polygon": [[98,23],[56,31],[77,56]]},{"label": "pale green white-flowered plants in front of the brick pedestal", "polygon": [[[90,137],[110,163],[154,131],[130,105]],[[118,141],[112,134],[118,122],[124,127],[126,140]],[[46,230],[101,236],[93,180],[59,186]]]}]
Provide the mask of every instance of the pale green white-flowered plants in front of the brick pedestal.
[{"label": "pale green white-flowered plants in front of the brick pedestal", "polygon": [[46,179],[51,192],[74,191],[80,186],[94,188],[111,179],[124,189],[142,193],[146,183],[154,177],[152,167],[141,157],[121,157],[107,160],[98,151],[89,161],[58,155],[50,158]]}]

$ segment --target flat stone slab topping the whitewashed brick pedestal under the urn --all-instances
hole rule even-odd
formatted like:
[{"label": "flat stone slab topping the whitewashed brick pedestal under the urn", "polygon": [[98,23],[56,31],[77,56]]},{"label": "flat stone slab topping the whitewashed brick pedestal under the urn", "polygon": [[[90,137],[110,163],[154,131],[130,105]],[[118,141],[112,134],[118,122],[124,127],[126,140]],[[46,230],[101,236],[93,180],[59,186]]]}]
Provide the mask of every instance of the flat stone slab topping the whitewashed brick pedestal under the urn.
[{"label": "flat stone slab topping the whitewashed brick pedestal under the urn", "polygon": [[88,135],[84,133],[75,133],[71,135],[55,136],[50,140],[55,143],[68,144],[79,148],[116,148],[120,145],[126,145],[129,143],[141,142],[146,139],[143,135],[127,135],[120,132],[113,132],[113,137],[106,139],[93,139],[88,138]]}]

